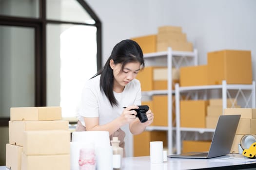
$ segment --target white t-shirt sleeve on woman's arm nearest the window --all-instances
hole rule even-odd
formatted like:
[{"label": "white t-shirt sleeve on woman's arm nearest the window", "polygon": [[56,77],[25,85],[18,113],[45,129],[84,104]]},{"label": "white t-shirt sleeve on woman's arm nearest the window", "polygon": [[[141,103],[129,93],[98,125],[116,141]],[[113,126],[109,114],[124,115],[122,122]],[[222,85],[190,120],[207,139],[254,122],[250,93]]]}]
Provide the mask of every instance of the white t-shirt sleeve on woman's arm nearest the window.
[{"label": "white t-shirt sleeve on woman's arm nearest the window", "polygon": [[88,87],[82,90],[79,115],[87,118],[98,117],[97,94]]}]

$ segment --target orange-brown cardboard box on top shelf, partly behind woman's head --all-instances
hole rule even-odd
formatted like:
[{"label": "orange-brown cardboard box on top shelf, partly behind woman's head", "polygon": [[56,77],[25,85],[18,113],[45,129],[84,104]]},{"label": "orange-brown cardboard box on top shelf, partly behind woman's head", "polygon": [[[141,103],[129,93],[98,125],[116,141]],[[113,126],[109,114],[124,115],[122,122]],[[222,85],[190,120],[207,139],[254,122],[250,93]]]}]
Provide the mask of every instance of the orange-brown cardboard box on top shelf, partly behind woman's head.
[{"label": "orange-brown cardboard box on top shelf, partly behind woman's head", "polygon": [[157,35],[156,34],[134,37],[131,39],[138,43],[138,45],[140,46],[144,54],[157,51]]}]

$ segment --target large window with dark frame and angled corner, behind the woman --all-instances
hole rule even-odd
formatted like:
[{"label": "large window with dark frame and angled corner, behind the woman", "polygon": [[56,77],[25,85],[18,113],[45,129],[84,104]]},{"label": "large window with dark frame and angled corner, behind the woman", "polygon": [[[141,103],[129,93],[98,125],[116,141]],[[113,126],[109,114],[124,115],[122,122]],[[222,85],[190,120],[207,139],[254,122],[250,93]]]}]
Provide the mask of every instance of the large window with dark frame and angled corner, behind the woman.
[{"label": "large window with dark frame and angled corner, behind the woman", "polygon": [[100,68],[101,22],[84,0],[0,0],[0,126],[10,107],[61,106],[74,117]]}]

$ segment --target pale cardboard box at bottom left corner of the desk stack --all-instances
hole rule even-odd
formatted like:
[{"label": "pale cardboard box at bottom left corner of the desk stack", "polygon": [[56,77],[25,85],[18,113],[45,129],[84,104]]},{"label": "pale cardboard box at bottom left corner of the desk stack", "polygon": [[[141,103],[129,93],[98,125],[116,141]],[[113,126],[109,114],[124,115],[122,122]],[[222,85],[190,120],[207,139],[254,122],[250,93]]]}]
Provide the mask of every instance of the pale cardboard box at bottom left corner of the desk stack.
[{"label": "pale cardboard box at bottom left corner of the desk stack", "polygon": [[23,147],[6,144],[5,166],[10,170],[20,170]]}]

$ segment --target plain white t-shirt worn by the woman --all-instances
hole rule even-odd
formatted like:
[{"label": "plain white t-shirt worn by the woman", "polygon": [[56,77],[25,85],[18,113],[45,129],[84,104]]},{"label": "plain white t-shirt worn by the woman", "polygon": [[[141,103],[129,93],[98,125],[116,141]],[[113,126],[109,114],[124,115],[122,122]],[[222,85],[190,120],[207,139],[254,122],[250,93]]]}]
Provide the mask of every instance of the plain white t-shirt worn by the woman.
[{"label": "plain white t-shirt worn by the woman", "polygon": [[99,118],[99,125],[107,124],[118,118],[123,111],[123,107],[130,105],[141,105],[141,87],[137,79],[128,83],[123,92],[114,96],[118,101],[118,106],[112,107],[105,93],[100,91],[100,75],[86,82],[82,90],[81,102],[78,111],[78,119],[82,125],[84,118]]}]

